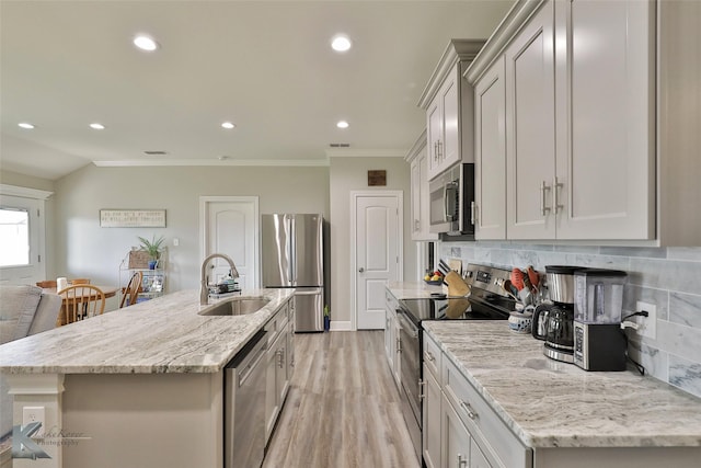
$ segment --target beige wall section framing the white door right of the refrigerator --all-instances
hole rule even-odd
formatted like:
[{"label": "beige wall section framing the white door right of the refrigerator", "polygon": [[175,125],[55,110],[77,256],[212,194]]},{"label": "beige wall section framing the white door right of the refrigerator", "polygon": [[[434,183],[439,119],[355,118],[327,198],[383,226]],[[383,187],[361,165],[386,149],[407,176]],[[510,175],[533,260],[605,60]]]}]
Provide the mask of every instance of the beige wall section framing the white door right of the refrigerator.
[{"label": "beige wall section framing the white door right of the refrigerator", "polygon": [[[368,170],[387,170],[387,186],[369,187]],[[404,276],[414,278],[411,240],[410,165],[403,158],[331,158],[331,320],[350,321],[350,192],[401,190],[404,193]]]}]

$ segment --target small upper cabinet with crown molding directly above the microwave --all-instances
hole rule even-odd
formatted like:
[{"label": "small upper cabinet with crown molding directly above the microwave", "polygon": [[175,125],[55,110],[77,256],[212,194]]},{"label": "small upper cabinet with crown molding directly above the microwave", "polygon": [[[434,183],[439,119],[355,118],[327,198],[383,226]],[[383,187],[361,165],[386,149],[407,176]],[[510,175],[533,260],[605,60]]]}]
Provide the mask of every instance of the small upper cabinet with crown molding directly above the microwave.
[{"label": "small upper cabinet with crown molding directly above the microwave", "polygon": [[473,162],[473,93],[462,72],[483,44],[452,39],[420,99],[426,110],[428,180],[458,162]]}]

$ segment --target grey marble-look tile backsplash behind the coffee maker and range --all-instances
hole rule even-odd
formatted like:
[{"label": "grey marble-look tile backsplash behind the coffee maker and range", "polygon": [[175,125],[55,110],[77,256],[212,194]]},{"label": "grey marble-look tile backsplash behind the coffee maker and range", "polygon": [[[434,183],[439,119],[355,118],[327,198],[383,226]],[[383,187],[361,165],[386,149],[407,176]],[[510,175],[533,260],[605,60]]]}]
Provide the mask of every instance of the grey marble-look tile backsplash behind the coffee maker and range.
[{"label": "grey marble-look tile backsplash behind the coffee maker and range", "polygon": [[656,339],[629,331],[631,357],[648,375],[701,397],[701,248],[629,248],[441,242],[441,259],[543,272],[545,265],[577,265],[628,272],[623,315],[639,300],[657,306]]}]

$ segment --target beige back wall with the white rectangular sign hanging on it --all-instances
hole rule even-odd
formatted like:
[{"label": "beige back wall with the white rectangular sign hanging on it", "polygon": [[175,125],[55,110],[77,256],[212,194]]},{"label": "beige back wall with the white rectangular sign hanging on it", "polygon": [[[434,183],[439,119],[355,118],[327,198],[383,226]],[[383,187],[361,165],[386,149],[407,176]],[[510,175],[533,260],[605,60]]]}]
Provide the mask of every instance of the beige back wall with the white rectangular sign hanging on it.
[{"label": "beige back wall with the white rectangular sign hanging on it", "polygon": [[[199,286],[199,197],[257,195],[261,214],[322,213],[329,218],[329,168],[87,165],[55,184],[53,276],[117,284],[122,259],[137,236],[164,236],[169,290]],[[101,228],[100,209],[160,208],[165,228]],[[49,230],[51,231],[51,230]],[[180,246],[173,246],[179,238]]]}]

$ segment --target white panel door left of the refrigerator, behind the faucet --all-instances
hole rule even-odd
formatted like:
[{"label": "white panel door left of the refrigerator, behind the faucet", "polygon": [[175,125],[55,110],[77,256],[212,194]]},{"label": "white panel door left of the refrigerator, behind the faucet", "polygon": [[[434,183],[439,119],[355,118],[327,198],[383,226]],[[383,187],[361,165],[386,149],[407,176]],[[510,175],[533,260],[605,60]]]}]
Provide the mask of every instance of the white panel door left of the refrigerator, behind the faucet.
[{"label": "white panel door left of the refrigerator, behind the faucet", "polygon": [[[203,259],[225,253],[233,260],[242,289],[258,287],[258,198],[202,197]],[[208,266],[209,283],[229,274],[229,263],[214,259]]]}]

